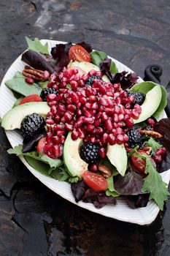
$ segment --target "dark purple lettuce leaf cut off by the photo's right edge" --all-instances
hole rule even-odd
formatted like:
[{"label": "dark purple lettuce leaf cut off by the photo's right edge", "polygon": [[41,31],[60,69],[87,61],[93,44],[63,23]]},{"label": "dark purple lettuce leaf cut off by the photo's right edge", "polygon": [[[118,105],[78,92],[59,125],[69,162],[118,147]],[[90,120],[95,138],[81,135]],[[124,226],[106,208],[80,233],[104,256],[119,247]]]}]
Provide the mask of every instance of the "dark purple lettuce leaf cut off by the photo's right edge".
[{"label": "dark purple lettuce leaf cut off by the photo's right edge", "polygon": [[163,118],[154,124],[153,129],[155,132],[161,133],[163,136],[160,143],[166,148],[166,155],[163,157],[163,162],[159,165],[159,173],[169,170],[170,168],[170,118]]}]

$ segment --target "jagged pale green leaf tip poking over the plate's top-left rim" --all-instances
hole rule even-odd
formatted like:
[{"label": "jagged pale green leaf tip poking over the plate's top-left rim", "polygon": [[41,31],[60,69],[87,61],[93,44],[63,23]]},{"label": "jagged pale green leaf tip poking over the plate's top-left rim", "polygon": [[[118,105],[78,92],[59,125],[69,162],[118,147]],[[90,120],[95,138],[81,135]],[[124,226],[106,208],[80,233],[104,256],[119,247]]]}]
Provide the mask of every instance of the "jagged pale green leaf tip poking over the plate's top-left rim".
[{"label": "jagged pale green leaf tip poking over the plate's top-left rim", "polygon": [[34,50],[37,53],[49,54],[47,42],[45,45],[42,45],[42,43],[39,41],[37,37],[34,40],[31,40],[28,37],[26,37],[26,42],[28,43],[29,50]]}]

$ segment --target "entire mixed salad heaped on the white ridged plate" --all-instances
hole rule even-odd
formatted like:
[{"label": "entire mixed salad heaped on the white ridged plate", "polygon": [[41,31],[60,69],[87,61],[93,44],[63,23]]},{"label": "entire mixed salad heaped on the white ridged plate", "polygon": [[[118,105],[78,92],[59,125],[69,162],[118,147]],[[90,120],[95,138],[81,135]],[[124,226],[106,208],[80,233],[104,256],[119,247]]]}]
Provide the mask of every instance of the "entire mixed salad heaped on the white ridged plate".
[{"label": "entire mixed salad heaped on the white ridged plate", "polygon": [[4,81],[12,106],[1,127],[22,141],[8,153],[69,184],[75,202],[92,203],[96,212],[121,200],[163,210],[170,178],[163,86],[120,70],[85,42],[50,48],[26,39],[21,66]]}]

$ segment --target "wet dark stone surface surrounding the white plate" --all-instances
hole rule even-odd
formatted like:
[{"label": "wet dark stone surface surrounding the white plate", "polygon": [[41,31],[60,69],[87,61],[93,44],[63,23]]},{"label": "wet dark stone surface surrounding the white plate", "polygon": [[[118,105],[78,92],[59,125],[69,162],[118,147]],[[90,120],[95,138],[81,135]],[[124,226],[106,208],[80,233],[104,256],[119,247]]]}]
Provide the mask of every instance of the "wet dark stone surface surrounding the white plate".
[{"label": "wet dark stone surface surrounding the white plate", "polygon": [[[25,36],[82,41],[102,49],[142,78],[147,64],[170,80],[170,3],[140,1],[0,1],[0,80],[23,50]],[[170,255],[170,203],[139,226],[78,208],[37,181],[0,128],[0,255]]]}]

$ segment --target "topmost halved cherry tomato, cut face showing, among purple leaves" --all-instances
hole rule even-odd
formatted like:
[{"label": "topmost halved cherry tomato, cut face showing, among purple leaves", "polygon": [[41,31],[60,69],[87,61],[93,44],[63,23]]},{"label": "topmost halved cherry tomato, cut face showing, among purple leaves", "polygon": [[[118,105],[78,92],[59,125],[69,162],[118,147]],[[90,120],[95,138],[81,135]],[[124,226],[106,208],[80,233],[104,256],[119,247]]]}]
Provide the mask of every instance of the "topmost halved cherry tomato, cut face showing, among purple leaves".
[{"label": "topmost halved cherry tomato, cut face showing, among purple leaves", "polygon": [[91,61],[90,54],[81,45],[73,45],[69,49],[69,59],[72,61]]}]

